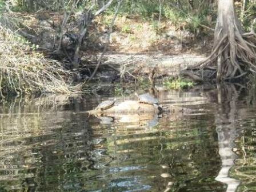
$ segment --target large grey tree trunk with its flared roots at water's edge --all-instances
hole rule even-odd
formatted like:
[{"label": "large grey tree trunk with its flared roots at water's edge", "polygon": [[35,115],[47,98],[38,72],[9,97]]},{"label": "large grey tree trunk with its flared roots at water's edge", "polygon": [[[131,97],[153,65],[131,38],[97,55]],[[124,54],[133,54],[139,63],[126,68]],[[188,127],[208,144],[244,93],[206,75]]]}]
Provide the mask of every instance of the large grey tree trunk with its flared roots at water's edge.
[{"label": "large grey tree trunk with its flared roots at water's edge", "polygon": [[204,63],[217,62],[217,81],[240,78],[256,70],[255,42],[255,33],[243,35],[233,0],[218,0],[213,51]]}]

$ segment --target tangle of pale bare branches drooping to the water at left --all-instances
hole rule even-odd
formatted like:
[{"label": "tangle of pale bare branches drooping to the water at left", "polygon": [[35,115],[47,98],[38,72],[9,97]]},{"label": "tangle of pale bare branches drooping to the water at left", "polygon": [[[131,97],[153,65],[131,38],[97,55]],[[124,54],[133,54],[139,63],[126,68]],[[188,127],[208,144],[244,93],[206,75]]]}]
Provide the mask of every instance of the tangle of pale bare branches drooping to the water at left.
[{"label": "tangle of pale bare branches drooping to the water at left", "polygon": [[[30,93],[73,94],[81,91],[81,84],[72,85],[69,78],[74,74],[63,63],[47,58],[37,51],[16,31],[15,18],[2,14],[0,18],[0,94],[19,95]],[[9,27],[5,27],[6,23]]]}]

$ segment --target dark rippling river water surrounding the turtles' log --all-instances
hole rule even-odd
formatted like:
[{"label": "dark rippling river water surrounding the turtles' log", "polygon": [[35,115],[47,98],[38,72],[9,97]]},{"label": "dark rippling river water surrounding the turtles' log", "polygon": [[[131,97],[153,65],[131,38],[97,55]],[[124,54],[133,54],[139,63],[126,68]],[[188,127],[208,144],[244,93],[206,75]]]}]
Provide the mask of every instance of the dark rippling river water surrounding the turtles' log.
[{"label": "dark rippling river water surrounding the turtles' log", "polygon": [[256,191],[256,109],[241,87],[160,91],[161,116],[87,117],[114,97],[102,94],[3,103],[0,191]]}]

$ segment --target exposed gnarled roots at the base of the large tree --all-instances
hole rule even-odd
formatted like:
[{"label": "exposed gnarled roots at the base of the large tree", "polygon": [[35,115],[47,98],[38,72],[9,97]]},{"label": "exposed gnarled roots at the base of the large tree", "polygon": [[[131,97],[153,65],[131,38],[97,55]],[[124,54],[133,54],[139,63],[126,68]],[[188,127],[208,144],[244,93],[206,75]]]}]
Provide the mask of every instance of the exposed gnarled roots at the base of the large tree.
[{"label": "exposed gnarled roots at the base of the large tree", "polygon": [[[197,67],[201,70],[217,63],[217,81],[242,78],[250,72],[256,73],[256,36],[233,31],[223,35],[215,44],[213,52]],[[221,36],[221,35],[220,35]]]}]

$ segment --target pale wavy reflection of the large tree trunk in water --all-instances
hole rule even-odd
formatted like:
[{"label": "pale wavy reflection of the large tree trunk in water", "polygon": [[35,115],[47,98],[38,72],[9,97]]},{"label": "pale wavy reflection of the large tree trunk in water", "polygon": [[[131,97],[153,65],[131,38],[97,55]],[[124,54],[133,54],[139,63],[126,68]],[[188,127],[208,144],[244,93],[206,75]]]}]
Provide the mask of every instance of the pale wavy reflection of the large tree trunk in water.
[{"label": "pale wavy reflection of the large tree trunk in water", "polygon": [[237,159],[237,155],[233,153],[232,149],[235,147],[235,138],[239,134],[235,118],[237,117],[237,101],[240,91],[234,85],[217,85],[218,103],[215,124],[222,167],[215,179],[227,185],[226,192],[236,191],[240,184],[238,179],[231,178],[229,175],[230,169]]}]

